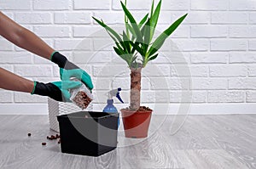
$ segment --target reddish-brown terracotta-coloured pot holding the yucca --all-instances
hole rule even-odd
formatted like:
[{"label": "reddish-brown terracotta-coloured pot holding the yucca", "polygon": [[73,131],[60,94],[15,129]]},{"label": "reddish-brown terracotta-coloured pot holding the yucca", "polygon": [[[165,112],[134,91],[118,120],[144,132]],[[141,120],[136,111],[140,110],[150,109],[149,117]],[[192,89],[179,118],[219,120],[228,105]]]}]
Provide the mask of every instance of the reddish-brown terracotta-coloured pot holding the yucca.
[{"label": "reddish-brown terracotta-coloured pot holding the yucca", "polygon": [[126,138],[147,138],[152,110],[121,110]]}]

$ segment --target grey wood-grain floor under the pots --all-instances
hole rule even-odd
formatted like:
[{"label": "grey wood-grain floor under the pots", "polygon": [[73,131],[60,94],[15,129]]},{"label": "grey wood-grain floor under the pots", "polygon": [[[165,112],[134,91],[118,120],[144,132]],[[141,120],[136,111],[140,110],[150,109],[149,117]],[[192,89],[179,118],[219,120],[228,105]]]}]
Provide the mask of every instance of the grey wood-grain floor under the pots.
[{"label": "grey wood-grain floor under the pots", "polygon": [[190,115],[176,134],[173,119],[154,115],[148,139],[119,133],[117,149],[89,157],[47,141],[47,115],[0,115],[0,168],[256,168],[256,115]]}]

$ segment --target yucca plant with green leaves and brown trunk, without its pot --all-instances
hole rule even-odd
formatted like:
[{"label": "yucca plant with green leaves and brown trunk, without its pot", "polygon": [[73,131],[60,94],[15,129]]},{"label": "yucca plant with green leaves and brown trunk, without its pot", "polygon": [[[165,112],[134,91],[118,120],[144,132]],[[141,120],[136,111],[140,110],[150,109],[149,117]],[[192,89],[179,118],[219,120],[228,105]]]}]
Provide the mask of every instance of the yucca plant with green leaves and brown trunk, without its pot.
[{"label": "yucca plant with green leaves and brown trunk, without its pot", "polygon": [[95,17],[93,19],[105,28],[115,42],[116,46],[113,47],[115,53],[121,59],[124,59],[131,69],[130,110],[138,110],[140,108],[142,68],[149,61],[157,58],[158,50],[162,47],[166,38],[177,29],[177,26],[183,22],[187,14],[176,20],[152,42],[160,15],[162,0],[160,0],[156,8],[154,8],[153,0],[150,13],[146,14],[140,22],[137,22],[126,8],[126,0],[125,3],[120,3],[125,12],[125,31],[121,34],[106,25],[103,20],[98,20]]}]

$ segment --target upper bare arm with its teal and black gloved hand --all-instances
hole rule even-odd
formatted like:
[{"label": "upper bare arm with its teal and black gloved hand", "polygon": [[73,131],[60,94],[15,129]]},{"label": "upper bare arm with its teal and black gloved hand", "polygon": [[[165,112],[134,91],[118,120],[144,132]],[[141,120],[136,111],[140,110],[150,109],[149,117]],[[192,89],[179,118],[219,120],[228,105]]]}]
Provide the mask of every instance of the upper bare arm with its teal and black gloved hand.
[{"label": "upper bare arm with its teal and black gloved hand", "polygon": [[49,59],[60,67],[61,80],[68,81],[70,77],[76,77],[90,89],[93,88],[90,76],[77,65],[70,62],[64,55],[55,52],[41,38],[10,20],[0,12],[0,35],[15,43],[20,48],[24,48],[33,54]]}]

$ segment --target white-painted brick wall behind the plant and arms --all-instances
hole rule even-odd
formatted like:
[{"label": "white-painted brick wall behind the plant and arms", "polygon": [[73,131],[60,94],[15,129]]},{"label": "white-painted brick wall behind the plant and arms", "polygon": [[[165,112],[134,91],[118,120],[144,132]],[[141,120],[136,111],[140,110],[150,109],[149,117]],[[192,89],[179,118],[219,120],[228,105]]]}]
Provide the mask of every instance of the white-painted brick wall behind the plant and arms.
[{"label": "white-painted brick wall behind the plant and arms", "polygon": [[[141,20],[150,3],[128,0],[128,8]],[[122,24],[119,0],[3,0],[0,10],[88,71],[99,103],[111,87],[123,87],[121,94],[129,101],[129,69],[113,53],[108,34],[91,19],[94,15],[111,26]],[[175,45],[167,41],[164,52],[143,70],[143,103],[187,103],[190,97],[197,104],[256,103],[256,1],[163,0],[157,31],[185,13],[187,19],[172,35]],[[59,79],[56,65],[2,37],[0,66],[32,80]],[[0,103],[46,99],[0,90]]]}]

